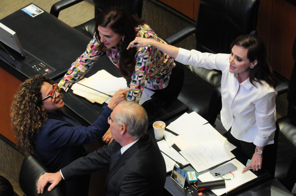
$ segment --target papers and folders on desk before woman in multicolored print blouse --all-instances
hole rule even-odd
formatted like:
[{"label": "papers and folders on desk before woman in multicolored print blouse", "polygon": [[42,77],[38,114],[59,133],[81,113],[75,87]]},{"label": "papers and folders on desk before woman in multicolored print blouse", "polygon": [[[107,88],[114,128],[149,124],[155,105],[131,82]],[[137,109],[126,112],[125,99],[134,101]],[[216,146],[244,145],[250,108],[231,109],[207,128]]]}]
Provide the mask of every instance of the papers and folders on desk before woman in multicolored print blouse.
[{"label": "papers and folders on desk before woman in multicolored print blouse", "polygon": [[[120,88],[127,88],[126,80],[123,77],[117,78],[105,70],[100,70],[89,78],[83,78],[79,83],[109,95],[113,95]],[[86,98],[92,103],[96,102],[102,104],[109,98],[109,96],[83,85],[74,84],[71,88],[73,93]]]}]

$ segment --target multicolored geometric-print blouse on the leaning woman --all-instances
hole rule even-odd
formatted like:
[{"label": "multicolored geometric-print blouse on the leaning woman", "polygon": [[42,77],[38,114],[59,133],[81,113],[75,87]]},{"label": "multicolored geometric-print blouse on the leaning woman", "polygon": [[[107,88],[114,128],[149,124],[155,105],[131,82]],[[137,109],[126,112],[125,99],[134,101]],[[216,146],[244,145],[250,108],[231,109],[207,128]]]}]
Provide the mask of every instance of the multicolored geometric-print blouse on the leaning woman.
[{"label": "multicolored geometric-print blouse on the leaning woman", "polygon": [[[147,24],[136,27],[135,31],[137,37],[151,38],[165,43],[165,41],[157,37]],[[99,43],[94,36],[88,44],[86,51],[72,64],[59,82],[59,88],[67,92],[73,82],[86,74],[104,52],[97,50]],[[116,67],[119,67],[119,51],[119,46],[107,48],[106,50],[109,59]],[[135,61],[135,71],[131,76],[130,84],[133,90],[128,92],[127,98],[131,101],[139,102],[144,88],[156,90],[163,89],[168,85],[171,71],[174,67],[174,59],[154,46],[146,46],[137,48]]]}]

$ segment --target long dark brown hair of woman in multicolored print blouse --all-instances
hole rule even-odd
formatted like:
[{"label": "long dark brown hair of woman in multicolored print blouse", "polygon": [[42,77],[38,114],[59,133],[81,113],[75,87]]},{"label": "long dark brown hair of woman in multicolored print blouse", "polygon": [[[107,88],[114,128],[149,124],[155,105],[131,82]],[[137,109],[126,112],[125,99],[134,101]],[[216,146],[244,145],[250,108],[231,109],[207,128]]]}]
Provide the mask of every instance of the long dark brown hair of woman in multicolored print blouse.
[{"label": "long dark brown hair of woman in multicolored print blouse", "polygon": [[[128,44],[136,37],[135,28],[143,25],[144,20],[131,15],[128,11],[120,7],[111,7],[104,10],[96,20],[96,40],[100,41],[98,26],[108,27],[118,35],[124,35],[124,42],[119,43],[119,72],[123,77],[131,77],[135,70],[136,48],[127,50]],[[100,43],[99,50],[106,49],[104,43]]]}]

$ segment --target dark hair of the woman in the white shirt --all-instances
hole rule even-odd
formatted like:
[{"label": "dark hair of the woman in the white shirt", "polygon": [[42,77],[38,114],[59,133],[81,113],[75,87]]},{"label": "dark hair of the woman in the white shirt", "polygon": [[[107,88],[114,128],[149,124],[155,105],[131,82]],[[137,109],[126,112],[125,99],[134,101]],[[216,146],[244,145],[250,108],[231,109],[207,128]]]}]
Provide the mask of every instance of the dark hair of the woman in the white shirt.
[{"label": "dark hair of the woman in the white shirt", "polygon": [[275,88],[276,78],[271,72],[271,68],[267,63],[267,53],[264,41],[257,35],[240,35],[232,43],[231,48],[236,46],[242,46],[248,49],[247,58],[250,62],[258,61],[257,65],[250,69],[250,82],[255,85],[255,82],[263,83],[260,80],[264,80],[268,85]]}]

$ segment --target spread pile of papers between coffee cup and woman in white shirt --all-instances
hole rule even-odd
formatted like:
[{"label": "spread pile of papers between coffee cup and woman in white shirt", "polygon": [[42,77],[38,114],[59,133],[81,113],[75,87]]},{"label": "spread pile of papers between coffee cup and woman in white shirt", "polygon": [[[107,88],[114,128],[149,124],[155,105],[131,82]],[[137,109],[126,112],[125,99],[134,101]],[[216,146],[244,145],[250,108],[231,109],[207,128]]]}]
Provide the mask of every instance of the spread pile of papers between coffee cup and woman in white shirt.
[{"label": "spread pile of papers between coffee cup and woman in white shirt", "polygon": [[198,172],[235,157],[230,151],[236,147],[196,112],[183,114],[166,128],[178,134],[170,140]]}]

